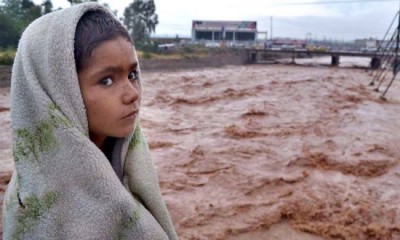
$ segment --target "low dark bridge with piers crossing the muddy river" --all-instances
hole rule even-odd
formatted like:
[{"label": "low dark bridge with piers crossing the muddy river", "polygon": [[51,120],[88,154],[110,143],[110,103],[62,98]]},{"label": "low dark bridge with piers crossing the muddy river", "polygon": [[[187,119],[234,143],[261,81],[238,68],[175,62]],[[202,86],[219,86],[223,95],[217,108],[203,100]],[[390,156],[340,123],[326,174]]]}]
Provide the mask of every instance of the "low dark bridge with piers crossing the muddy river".
[{"label": "low dark bridge with piers crossing the muddy river", "polygon": [[[331,64],[333,66],[339,65],[339,60],[341,56],[349,57],[370,57],[371,67],[377,69],[381,65],[381,57],[379,52],[370,51],[345,51],[345,50],[308,50],[308,49],[252,49],[247,48],[247,61],[249,63],[257,63],[262,56],[273,56],[273,55],[286,55],[290,56],[294,62],[295,58],[304,58],[312,56],[331,56]],[[393,53],[394,54],[394,53]]]}]

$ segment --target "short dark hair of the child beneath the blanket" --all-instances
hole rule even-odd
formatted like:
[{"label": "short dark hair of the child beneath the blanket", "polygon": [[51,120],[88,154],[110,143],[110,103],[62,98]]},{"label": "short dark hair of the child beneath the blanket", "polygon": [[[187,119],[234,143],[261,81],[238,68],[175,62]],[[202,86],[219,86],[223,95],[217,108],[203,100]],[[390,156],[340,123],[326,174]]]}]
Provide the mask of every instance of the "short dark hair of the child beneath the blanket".
[{"label": "short dark hair of the child beneath the blanket", "polygon": [[81,19],[75,31],[74,57],[76,70],[82,69],[85,60],[101,43],[123,37],[132,43],[128,31],[110,13],[102,10],[88,11]]}]

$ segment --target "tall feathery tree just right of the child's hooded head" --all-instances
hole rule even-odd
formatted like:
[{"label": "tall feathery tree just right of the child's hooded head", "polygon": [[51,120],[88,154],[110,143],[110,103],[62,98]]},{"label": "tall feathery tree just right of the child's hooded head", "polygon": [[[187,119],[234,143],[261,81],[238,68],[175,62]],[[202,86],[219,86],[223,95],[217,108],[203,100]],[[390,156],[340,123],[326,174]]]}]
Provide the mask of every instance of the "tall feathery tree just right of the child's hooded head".
[{"label": "tall feathery tree just right of the child's hooded head", "polygon": [[134,0],[124,11],[124,24],[136,45],[142,45],[156,31],[158,16],[154,0]]}]

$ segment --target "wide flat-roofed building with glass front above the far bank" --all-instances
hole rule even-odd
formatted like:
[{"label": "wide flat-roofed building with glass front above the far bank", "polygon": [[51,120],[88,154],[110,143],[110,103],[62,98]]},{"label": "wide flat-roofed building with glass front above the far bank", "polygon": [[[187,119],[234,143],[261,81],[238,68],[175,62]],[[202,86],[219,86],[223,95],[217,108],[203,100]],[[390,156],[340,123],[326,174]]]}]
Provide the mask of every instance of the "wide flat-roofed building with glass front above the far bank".
[{"label": "wide flat-roofed building with glass front above the far bank", "polygon": [[255,42],[257,22],[255,21],[202,21],[193,20],[193,41]]}]

